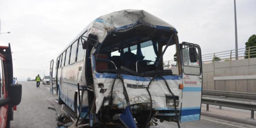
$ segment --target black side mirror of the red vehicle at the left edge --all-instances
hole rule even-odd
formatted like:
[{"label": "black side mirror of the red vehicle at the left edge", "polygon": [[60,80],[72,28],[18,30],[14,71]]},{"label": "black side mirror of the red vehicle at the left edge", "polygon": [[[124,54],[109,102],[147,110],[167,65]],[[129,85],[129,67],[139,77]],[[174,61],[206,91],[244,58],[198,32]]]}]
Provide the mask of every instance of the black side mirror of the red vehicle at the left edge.
[{"label": "black side mirror of the red vehicle at the left edge", "polygon": [[9,95],[6,99],[0,100],[0,107],[5,106],[7,104],[11,104],[13,106],[17,106],[21,103],[21,84],[11,84],[9,86]]}]

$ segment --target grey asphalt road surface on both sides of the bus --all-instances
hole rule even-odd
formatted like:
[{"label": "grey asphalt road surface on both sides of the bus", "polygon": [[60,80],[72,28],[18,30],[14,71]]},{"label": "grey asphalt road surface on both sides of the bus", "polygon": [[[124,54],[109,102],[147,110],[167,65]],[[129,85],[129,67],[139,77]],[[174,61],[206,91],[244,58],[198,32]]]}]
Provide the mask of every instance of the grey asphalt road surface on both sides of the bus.
[{"label": "grey asphalt road surface on both sides of the bus", "polygon": [[[19,82],[22,84],[22,100],[14,111],[14,120],[11,128],[56,128],[55,112],[47,107],[59,107],[55,102],[57,95],[51,95],[49,85],[36,88],[35,81]],[[150,128],[178,128],[176,123],[157,122],[158,126]],[[243,125],[231,121],[201,116],[200,121],[180,124],[181,128],[256,128],[255,126]]]}]

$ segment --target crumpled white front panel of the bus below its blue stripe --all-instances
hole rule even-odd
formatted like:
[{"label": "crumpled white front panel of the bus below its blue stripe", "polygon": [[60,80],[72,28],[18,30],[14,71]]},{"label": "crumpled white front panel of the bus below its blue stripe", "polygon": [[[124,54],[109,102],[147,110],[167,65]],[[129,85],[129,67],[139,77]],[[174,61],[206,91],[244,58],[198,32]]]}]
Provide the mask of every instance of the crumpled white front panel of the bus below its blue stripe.
[{"label": "crumpled white front panel of the bus below its blue stripe", "polygon": [[[106,75],[106,73],[105,73]],[[136,77],[136,76],[133,76]],[[145,78],[148,80],[148,78]],[[151,78],[149,78],[150,80]],[[102,106],[104,97],[110,97],[111,92],[111,86],[114,81],[112,78],[99,78],[95,81],[100,81],[96,83],[104,83],[104,88],[107,89],[105,93],[98,93],[96,94],[99,98],[96,102],[97,106]],[[149,93],[145,88],[129,88],[127,85],[141,85],[141,86],[148,86],[149,81],[137,81],[137,80],[129,80],[124,79],[124,83],[126,86],[126,90],[128,92],[129,96],[129,102],[130,105],[134,104],[140,104],[140,103],[150,103],[150,97]],[[168,80],[168,84],[171,88],[171,90],[174,92],[175,95],[180,95],[182,93],[182,90],[178,89],[178,84],[182,83],[182,80]],[[96,85],[95,85],[96,87]],[[101,88],[97,86],[95,90],[100,91]],[[159,108],[159,107],[168,107],[166,106],[165,97],[166,95],[171,95],[170,92],[168,92],[168,89],[164,83],[163,80],[155,80],[150,85],[150,94],[152,97],[152,103],[153,108]],[[113,90],[113,104],[116,104],[119,109],[125,109],[127,107],[125,96],[123,94],[123,85],[121,83],[121,80],[117,79],[114,84],[114,90]],[[147,104],[149,106],[149,104]],[[180,106],[180,105],[179,105]],[[136,107],[136,106],[135,106]],[[99,111],[100,107],[97,108]]]}]

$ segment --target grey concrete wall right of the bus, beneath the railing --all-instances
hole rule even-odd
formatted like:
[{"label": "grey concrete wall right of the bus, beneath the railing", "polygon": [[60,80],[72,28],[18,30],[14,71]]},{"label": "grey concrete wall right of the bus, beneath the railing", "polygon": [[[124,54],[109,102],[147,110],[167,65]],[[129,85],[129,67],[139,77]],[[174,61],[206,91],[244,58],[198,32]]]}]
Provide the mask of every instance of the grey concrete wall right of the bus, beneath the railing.
[{"label": "grey concrete wall right of the bus, beneath the railing", "polygon": [[256,58],[203,64],[203,89],[256,93]]}]

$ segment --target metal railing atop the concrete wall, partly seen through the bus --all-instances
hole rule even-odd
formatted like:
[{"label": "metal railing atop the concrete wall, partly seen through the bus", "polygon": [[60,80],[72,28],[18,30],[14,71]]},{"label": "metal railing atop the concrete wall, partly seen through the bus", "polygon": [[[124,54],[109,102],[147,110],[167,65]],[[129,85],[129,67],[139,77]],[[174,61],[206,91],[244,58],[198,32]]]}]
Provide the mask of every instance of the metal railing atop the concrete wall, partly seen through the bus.
[{"label": "metal railing atop the concrete wall, partly seen through the bus", "polygon": [[[202,55],[202,61],[204,62],[215,62],[215,61],[232,61],[235,60],[235,50],[228,50],[224,52],[215,52],[211,54]],[[256,46],[248,48],[239,48],[237,49],[238,59],[247,59],[256,57]],[[176,66],[176,61],[169,60],[163,62],[165,68],[170,68]]]}]

